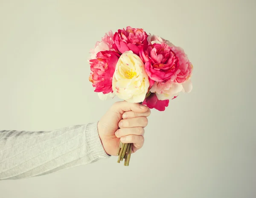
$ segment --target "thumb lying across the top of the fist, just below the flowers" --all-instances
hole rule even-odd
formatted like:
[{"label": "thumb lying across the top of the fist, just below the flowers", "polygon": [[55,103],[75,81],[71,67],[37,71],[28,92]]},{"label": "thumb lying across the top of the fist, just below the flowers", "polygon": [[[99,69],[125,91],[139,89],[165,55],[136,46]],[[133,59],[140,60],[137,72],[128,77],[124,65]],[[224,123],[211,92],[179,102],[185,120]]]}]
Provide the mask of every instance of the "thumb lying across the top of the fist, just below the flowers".
[{"label": "thumb lying across the top of the fist, just below the flowers", "polygon": [[116,102],[112,105],[112,110],[123,114],[126,111],[134,111],[136,113],[145,113],[148,111],[148,107],[145,105],[140,105],[138,103],[130,103],[126,101]]}]

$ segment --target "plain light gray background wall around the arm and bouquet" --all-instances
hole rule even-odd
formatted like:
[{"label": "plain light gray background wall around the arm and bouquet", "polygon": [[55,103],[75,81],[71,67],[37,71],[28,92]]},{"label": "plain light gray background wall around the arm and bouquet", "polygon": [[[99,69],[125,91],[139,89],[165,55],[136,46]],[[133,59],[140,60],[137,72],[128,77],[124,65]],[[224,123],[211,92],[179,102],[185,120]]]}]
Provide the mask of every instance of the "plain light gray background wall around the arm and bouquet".
[{"label": "plain light gray background wall around the arm and bouquet", "polygon": [[[88,51],[131,25],[182,46],[193,91],[152,111],[130,167],[116,158],[0,181],[1,198],[255,198],[254,0],[0,0],[0,129],[96,122]],[[136,3],[137,2],[137,3]]]}]

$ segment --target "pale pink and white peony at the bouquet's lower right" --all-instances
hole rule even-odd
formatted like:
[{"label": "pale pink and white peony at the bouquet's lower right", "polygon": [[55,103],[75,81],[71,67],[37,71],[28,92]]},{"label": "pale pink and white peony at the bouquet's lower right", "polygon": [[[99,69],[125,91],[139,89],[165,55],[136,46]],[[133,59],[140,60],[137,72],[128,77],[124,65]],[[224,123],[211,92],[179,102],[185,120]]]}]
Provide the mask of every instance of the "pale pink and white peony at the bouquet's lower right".
[{"label": "pale pink and white peony at the bouquet's lower right", "polygon": [[188,79],[182,84],[167,82],[155,82],[151,88],[152,93],[156,93],[159,100],[174,99],[181,91],[189,93],[192,90],[191,79]]}]

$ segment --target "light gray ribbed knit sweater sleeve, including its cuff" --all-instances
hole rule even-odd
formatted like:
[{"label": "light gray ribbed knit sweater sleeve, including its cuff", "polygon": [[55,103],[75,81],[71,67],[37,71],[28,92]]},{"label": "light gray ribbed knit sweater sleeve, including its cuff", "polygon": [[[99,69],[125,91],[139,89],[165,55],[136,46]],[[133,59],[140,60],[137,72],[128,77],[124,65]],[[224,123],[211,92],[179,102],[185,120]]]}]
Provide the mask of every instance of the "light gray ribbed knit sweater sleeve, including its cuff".
[{"label": "light gray ribbed knit sweater sleeve, including its cuff", "polygon": [[0,180],[45,175],[108,157],[97,123],[53,131],[0,131]]}]

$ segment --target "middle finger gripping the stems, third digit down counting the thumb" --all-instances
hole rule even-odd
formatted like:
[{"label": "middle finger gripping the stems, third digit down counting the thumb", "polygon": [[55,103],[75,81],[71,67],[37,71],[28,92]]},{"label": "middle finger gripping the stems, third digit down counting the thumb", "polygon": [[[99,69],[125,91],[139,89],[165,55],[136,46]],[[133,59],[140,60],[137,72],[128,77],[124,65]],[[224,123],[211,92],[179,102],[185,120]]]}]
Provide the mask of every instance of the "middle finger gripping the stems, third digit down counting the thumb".
[{"label": "middle finger gripping the stems, third digit down counting the thumb", "polygon": [[122,119],[118,123],[119,128],[146,127],[147,125],[148,119],[146,117]]}]

